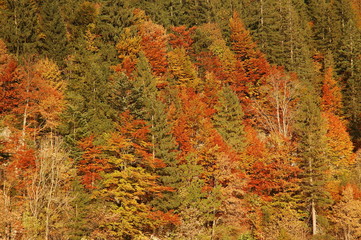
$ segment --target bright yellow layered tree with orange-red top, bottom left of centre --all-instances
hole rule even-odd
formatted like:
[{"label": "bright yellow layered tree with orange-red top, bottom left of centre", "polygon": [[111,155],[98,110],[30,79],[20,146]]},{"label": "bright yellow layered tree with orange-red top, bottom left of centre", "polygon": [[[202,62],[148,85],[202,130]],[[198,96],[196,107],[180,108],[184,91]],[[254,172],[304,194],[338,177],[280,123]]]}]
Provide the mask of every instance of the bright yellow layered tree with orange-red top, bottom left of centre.
[{"label": "bright yellow layered tree with orange-red top, bottom left of centre", "polygon": [[96,195],[108,206],[105,222],[99,230],[102,236],[129,239],[142,236],[159,224],[151,219],[150,201],[165,188],[157,185],[154,168],[164,163],[154,159],[149,151],[149,128],[129,112],[120,116],[117,131],[106,147],[109,166]]}]

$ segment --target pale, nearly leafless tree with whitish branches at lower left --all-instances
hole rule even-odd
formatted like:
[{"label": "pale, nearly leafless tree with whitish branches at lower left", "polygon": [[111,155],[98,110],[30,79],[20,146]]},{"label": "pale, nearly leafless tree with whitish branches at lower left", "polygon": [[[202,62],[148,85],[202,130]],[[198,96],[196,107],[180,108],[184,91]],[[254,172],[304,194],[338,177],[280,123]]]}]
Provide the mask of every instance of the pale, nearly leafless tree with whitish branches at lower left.
[{"label": "pale, nearly leafless tree with whitish branches at lower left", "polygon": [[74,175],[61,139],[42,139],[36,171],[26,187],[27,211],[23,221],[27,238],[54,239],[69,235],[73,201],[69,187]]}]

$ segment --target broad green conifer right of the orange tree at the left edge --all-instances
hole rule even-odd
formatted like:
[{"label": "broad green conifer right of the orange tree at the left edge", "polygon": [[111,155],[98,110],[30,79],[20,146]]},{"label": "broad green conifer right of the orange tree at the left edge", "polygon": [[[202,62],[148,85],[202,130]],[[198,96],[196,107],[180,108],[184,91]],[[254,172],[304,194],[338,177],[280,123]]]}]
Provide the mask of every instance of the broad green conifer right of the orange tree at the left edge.
[{"label": "broad green conifer right of the orange tree at the left edge", "polygon": [[109,69],[97,51],[89,41],[83,40],[67,62],[68,108],[64,117],[68,121],[62,131],[73,144],[85,136],[100,136],[113,128],[112,110],[107,101]]}]

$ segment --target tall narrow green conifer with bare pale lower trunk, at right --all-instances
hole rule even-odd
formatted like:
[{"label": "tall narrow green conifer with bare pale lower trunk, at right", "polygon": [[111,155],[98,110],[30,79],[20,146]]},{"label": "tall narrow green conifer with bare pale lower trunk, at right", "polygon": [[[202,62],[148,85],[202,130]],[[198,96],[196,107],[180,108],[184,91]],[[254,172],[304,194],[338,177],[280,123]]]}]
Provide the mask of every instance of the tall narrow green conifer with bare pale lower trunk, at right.
[{"label": "tall narrow green conifer with bare pale lower trunk, at right", "polygon": [[295,128],[298,136],[298,153],[301,159],[300,168],[303,170],[300,174],[301,191],[306,212],[310,215],[312,234],[315,235],[319,233],[317,216],[330,203],[328,193],[325,191],[326,132],[316,88],[310,83],[304,83],[300,96]]}]

